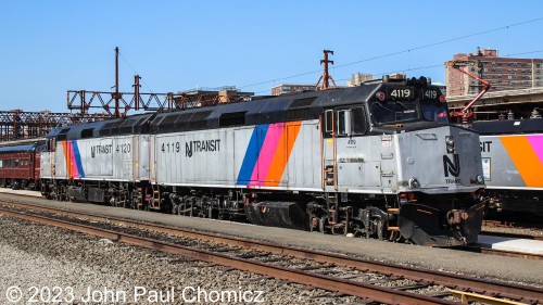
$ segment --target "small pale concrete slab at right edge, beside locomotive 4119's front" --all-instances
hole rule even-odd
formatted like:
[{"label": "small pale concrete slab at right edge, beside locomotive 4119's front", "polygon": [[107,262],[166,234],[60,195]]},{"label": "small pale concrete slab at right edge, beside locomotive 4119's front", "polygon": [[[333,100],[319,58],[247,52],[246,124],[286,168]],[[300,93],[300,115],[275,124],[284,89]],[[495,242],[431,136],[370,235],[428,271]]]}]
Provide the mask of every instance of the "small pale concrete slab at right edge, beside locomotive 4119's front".
[{"label": "small pale concrete slab at right edge, beside locomotive 4119's front", "polygon": [[479,244],[494,250],[543,255],[543,241],[539,240],[479,236]]}]

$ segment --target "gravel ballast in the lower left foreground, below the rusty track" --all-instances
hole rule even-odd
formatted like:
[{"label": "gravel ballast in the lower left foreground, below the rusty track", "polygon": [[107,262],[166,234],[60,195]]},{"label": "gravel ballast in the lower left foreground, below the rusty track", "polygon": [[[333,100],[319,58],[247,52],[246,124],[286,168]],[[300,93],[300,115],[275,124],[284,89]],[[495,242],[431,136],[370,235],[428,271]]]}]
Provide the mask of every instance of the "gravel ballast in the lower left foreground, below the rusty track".
[{"label": "gravel ballast in the lower left foreground, below the rusty track", "polygon": [[[55,296],[64,301],[60,304],[338,304],[356,301],[356,297],[338,297],[302,284],[1,215],[0,254],[0,304],[25,304],[23,301],[33,295],[38,304],[51,302]],[[22,296],[18,303],[9,303],[8,297],[17,296],[16,291],[9,291],[14,287]]]}]

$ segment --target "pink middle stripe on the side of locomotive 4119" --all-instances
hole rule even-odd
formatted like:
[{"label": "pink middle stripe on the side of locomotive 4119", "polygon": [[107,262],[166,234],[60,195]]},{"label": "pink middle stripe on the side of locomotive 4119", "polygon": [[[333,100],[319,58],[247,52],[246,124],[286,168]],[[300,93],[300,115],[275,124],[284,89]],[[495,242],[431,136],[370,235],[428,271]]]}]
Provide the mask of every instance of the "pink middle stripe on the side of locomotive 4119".
[{"label": "pink middle stripe on the side of locomotive 4119", "polygon": [[283,129],[285,123],[269,125],[266,139],[264,139],[264,144],[262,145],[262,150],[258,155],[258,160],[256,161],[256,166],[253,169],[253,175],[251,176],[251,182],[249,186],[264,186],[264,180],[268,174],[272,160],[274,160],[274,154],[277,150],[277,144],[279,143]]}]

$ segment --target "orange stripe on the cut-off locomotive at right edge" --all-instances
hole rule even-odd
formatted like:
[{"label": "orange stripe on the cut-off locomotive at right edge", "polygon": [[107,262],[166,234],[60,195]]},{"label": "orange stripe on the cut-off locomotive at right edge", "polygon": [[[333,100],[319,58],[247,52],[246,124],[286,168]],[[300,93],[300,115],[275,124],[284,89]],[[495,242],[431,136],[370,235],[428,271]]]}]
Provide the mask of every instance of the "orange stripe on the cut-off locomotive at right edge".
[{"label": "orange stripe on the cut-off locomotive at right edge", "polygon": [[500,137],[527,187],[543,187],[543,164],[527,137]]}]

